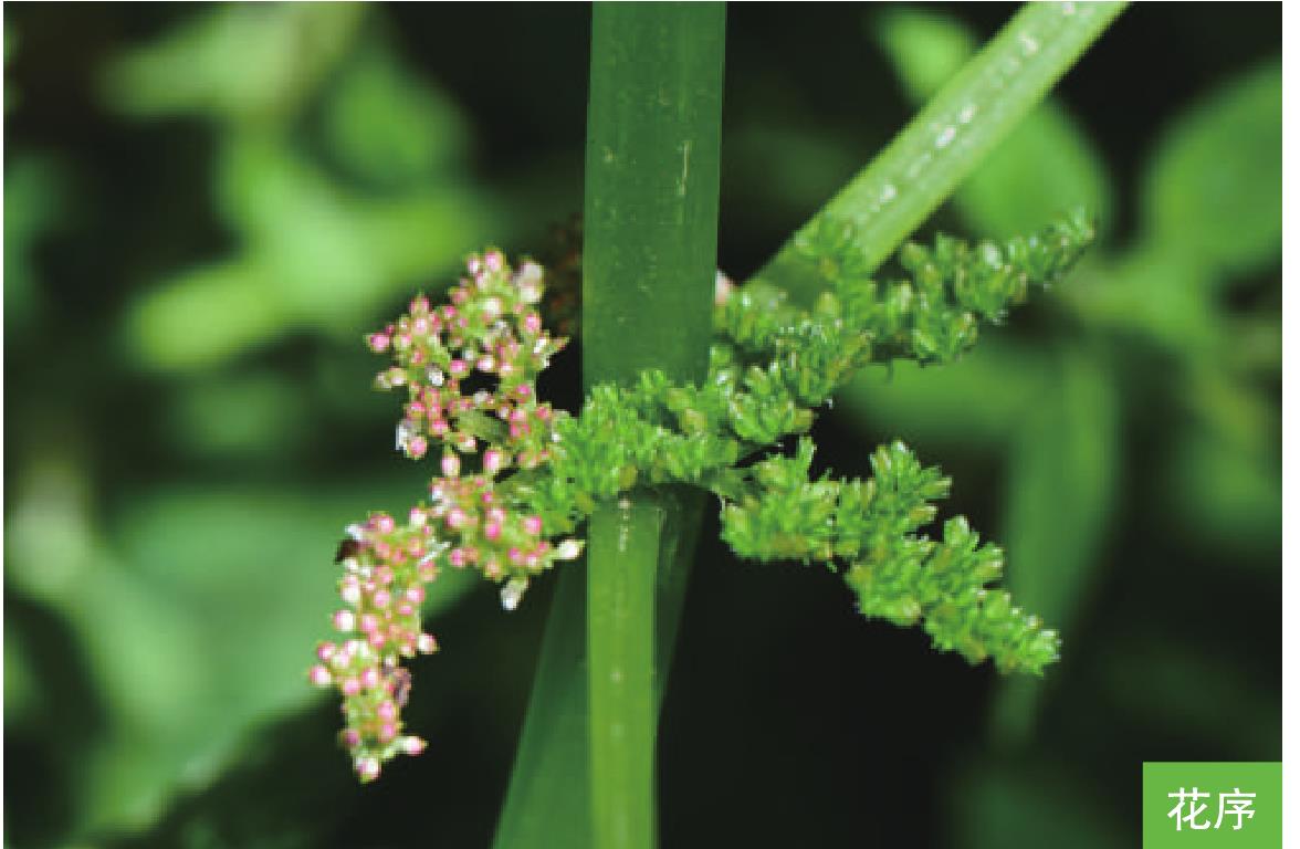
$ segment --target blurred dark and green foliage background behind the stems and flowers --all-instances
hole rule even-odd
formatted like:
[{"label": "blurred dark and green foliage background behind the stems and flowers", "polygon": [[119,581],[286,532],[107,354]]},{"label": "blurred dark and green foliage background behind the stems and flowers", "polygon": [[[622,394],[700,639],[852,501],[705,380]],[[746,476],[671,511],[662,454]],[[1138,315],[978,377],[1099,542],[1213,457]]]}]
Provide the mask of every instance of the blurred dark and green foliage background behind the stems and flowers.
[{"label": "blurred dark and green foliage background behind the stems and flowers", "polygon": [[[722,268],[1010,10],[733,5]],[[361,334],[581,208],[588,16],[6,4],[5,845],[489,844],[545,592],[441,584],[433,745],[376,787],[304,672],[341,528],[422,477]],[[1004,681],[706,542],[664,846],[1136,845],[1141,761],[1280,758],[1280,7],[1139,5],[936,216],[1104,238],[959,365],[863,376],[822,460],[941,464],[1065,658]]]}]

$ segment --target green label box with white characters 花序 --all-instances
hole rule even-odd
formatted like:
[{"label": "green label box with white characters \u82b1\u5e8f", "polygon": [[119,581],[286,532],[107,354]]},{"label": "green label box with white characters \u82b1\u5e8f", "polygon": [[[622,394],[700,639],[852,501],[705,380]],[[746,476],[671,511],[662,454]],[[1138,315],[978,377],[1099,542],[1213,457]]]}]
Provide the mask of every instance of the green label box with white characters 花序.
[{"label": "green label box with white characters \u82b1\u5e8f", "polygon": [[1144,849],[1279,849],[1282,764],[1143,763]]}]

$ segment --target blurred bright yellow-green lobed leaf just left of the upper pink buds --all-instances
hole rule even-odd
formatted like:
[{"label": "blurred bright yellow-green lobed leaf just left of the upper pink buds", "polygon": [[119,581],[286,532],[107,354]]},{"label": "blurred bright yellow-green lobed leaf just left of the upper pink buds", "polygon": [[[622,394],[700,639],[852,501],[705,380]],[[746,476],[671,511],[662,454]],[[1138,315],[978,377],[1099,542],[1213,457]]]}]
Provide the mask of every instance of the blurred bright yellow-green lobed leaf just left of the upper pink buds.
[{"label": "blurred bright yellow-green lobed leaf just left of the upper pink buds", "polygon": [[182,272],[133,304],[126,342],[151,367],[213,365],[298,329],[351,338],[380,306],[434,282],[488,230],[485,204],[467,190],[351,195],[278,133],[233,134],[218,185],[247,251]]}]

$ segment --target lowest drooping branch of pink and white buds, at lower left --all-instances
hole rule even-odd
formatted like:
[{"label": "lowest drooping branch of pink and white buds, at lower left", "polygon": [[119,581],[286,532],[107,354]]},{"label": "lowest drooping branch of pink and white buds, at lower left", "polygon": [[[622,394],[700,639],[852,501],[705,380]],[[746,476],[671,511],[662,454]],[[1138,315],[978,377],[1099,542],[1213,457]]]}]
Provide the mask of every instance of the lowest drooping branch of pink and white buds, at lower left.
[{"label": "lowest drooping branch of pink and white buds, at lower left", "polygon": [[413,510],[404,525],[373,514],[351,525],[339,547],[343,602],[333,616],[338,638],[316,646],[312,684],[333,686],[343,697],[343,745],[363,781],[380,775],[399,754],[419,754],[424,741],[402,733],[402,709],[411,673],[402,660],[432,654],[438,644],[425,633],[420,607],[425,585],[437,579],[447,550],[437,528]]}]

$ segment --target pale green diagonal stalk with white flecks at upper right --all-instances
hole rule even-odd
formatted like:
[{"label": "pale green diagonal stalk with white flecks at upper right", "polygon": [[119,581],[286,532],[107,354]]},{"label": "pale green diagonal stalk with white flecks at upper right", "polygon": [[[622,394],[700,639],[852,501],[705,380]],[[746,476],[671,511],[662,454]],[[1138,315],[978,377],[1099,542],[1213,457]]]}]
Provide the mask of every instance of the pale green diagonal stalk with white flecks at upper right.
[{"label": "pale green diagonal stalk with white flecks at upper right", "polygon": [[[1043,100],[1124,5],[1026,4],[800,231],[822,220],[852,224],[867,267],[878,268]],[[820,289],[816,267],[794,250],[794,238],[755,277],[805,302]]]}]

